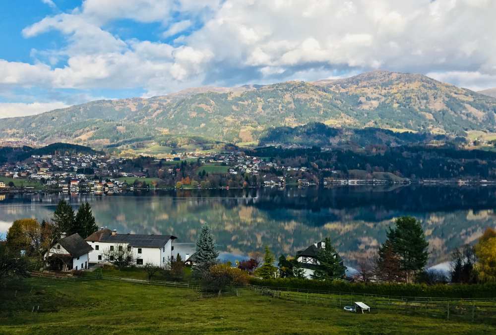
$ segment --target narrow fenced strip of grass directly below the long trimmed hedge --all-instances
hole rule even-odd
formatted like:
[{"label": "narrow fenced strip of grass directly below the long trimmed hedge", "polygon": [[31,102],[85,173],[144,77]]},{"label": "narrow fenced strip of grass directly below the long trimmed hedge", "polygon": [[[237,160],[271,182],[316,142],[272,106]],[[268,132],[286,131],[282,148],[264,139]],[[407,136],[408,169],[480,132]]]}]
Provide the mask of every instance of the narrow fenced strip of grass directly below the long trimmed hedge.
[{"label": "narrow fenced strip of grass directly below the long trimmed hedge", "polygon": [[307,291],[275,290],[250,285],[250,289],[261,295],[293,301],[304,305],[317,305],[343,309],[354,307],[355,302],[364,302],[371,307],[371,313],[401,313],[406,315],[496,325],[496,303],[494,301],[467,300],[414,300],[353,293],[318,293]]}]

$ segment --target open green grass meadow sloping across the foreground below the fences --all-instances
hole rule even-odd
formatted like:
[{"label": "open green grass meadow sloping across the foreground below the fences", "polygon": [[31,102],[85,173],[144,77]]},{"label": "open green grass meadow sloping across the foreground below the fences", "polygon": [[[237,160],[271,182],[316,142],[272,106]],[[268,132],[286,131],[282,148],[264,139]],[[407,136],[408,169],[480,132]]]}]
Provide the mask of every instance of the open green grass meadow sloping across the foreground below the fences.
[{"label": "open green grass meadow sloping across the foreground below the fences", "polygon": [[[496,328],[397,313],[355,314],[255,294],[200,299],[185,288],[25,279],[0,290],[0,334],[494,334]],[[32,313],[33,306],[40,306]]]}]

